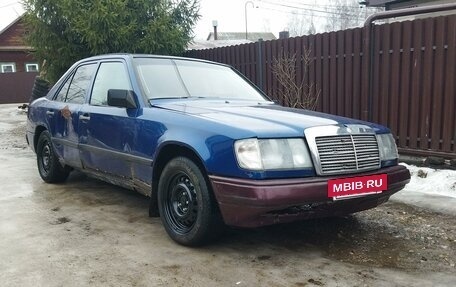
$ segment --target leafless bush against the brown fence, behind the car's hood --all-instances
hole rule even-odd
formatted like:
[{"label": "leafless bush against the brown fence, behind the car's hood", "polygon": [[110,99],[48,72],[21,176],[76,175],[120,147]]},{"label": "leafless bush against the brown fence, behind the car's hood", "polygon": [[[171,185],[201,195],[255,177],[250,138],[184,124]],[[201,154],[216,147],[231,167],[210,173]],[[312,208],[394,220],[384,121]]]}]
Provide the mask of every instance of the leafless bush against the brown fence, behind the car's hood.
[{"label": "leafless bush against the brown fence, behind the car's hood", "polygon": [[310,53],[311,50],[304,47],[303,56],[299,59],[303,66],[303,74],[300,79],[296,77],[296,68],[299,64],[296,53],[289,54],[282,50],[279,56],[273,59],[272,73],[281,86],[279,96],[286,106],[308,110],[315,110],[317,107],[321,91],[315,86],[315,83],[306,84],[304,81],[312,61]]}]

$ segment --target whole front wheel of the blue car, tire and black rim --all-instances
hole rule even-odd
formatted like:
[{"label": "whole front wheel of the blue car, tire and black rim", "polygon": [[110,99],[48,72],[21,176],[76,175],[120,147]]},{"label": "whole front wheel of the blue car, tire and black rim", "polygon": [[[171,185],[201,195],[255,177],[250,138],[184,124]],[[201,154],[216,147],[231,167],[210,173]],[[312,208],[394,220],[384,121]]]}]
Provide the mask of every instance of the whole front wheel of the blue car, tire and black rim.
[{"label": "whole front wheel of the blue car, tire and black rim", "polygon": [[206,244],[224,226],[203,171],[186,157],[172,159],[163,169],[158,209],[166,232],[182,245]]}]

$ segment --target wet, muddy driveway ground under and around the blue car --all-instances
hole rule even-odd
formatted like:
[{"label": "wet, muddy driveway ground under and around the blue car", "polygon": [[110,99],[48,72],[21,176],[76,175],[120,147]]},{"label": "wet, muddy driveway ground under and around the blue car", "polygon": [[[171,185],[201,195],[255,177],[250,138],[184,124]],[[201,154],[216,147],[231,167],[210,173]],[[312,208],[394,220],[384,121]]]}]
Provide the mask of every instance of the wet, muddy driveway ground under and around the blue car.
[{"label": "wet, muddy driveway ground under and around the blue car", "polygon": [[390,202],[345,218],[228,229],[179,246],[145,197],[38,176],[25,114],[0,106],[1,286],[454,286],[456,219]]}]

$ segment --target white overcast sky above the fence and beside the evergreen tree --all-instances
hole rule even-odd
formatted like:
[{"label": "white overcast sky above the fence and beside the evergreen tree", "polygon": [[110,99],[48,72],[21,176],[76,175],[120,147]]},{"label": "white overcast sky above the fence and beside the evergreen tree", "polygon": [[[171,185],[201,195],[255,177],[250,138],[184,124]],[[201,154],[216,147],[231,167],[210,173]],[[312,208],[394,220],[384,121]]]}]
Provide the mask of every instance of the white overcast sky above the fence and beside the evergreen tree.
[{"label": "white overcast sky above the fence and beside the evergreen tree", "polygon": [[[318,4],[317,4],[318,3]],[[322,29],[327,13],[334,11],[329,0],[200,0],[201,18],[194,33],[195,39],[206,39],[217,20],[219,32],[245,32],[245,12],[249,32],[273,32],[278,36],[287,29],[293,14],[314,15],[317,31]],[[0,0],[0,30],[23,13],[20,0]]]}]

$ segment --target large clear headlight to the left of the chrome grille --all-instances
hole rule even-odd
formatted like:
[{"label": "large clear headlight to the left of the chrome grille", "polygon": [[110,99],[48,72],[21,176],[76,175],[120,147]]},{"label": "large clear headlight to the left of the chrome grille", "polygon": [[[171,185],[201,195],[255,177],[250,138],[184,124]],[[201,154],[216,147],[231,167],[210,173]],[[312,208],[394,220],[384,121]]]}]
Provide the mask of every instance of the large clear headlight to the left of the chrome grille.
[{"label": "large clear headlight to the left of the chrome grille", "polygon": [[249,170],[312,168],[303,139],[245,139],[234,143],[239,166]]}]

